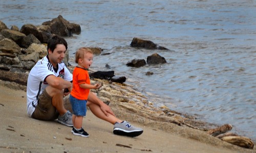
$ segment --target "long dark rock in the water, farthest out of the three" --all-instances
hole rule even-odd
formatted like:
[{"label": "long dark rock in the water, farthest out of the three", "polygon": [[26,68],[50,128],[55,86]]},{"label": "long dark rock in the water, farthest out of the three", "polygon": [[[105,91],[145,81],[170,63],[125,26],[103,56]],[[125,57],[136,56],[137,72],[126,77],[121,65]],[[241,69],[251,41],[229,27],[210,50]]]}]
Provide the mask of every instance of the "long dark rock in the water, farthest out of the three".
[{"label": "long dark rock in the water, farthest out of the three", "polygon": [[169,50],[163,46],[159,46],[158,44],[155,44],[154,42],[150,40],[143,40],[140,38],[134,37],[131,44],[131,47],[141,47],[146,49],[160,49],[160,50]]}]

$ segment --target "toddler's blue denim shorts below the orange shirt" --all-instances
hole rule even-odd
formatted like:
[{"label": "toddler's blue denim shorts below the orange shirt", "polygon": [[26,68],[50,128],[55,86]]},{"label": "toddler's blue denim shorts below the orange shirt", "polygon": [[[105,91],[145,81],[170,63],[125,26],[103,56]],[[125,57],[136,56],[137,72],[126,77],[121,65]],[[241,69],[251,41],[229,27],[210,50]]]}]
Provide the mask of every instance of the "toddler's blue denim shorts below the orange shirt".
[{"label": "toddler's blue denim shorts below the orange shirt", "polygon": [[79,100],[72,95],[69,97],[72,106],[73,114],[76,116],[86,116],[86,103],[87,100]]}]

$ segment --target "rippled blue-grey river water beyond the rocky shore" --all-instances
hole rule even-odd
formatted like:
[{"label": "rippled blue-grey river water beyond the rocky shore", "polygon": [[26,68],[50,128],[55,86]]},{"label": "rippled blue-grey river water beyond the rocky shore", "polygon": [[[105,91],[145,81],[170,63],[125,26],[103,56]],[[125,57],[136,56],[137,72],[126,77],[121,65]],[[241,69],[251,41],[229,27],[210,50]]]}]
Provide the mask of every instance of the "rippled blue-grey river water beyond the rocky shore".
[{"label": "rippled blue-grey river water beyond the rocky shore", "polygon": [[[8,28],[62,15],[80,24],[66,38],[70,63],[81,46],[101,47],[94,70],[125,76],[156,107],[230,123],[231,132],[256,140],[256,1],[24,1],[0,0]],[[134,37],[170,50],[131,48]],[[158,53],[166,64],[127,67],[132,59]],[[106,69],[109,64],[111,69]],[[153,75],[145,75],[147,71]]]}]

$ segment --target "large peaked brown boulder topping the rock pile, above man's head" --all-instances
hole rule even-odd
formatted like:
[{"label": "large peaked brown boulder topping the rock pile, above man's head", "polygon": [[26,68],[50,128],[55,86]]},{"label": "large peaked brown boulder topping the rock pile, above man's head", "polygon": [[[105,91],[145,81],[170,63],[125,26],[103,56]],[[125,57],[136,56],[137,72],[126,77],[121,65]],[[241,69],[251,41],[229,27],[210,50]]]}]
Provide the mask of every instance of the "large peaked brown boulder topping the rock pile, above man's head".
[{"label": "large peaked brown boulder topping the rock pile, above man's head", "polygon": [[72,34],[81,33],[81,27],[79,24],[70,23],[61,15],[51,21],[43,22],[42,25],[49,25],[51,27],[51,33],[59,36],[70,37]]}]

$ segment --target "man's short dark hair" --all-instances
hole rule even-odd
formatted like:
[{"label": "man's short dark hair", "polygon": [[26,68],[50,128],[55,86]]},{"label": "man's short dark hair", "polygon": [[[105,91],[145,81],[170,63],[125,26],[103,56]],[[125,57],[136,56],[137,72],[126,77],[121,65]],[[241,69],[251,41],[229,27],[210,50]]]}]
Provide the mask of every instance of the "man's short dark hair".
[{"label": "man's short dark hair", "polygon": [[52,38],[50,38],[47,42],[47,52],[49,53],[49,49],[53,52],[53,50],[56,48],[57,44],[63,44],[65,45],[66,49],[68,49],[68,43],[67,41],[59,37],[58,35],[54,35]]}]

